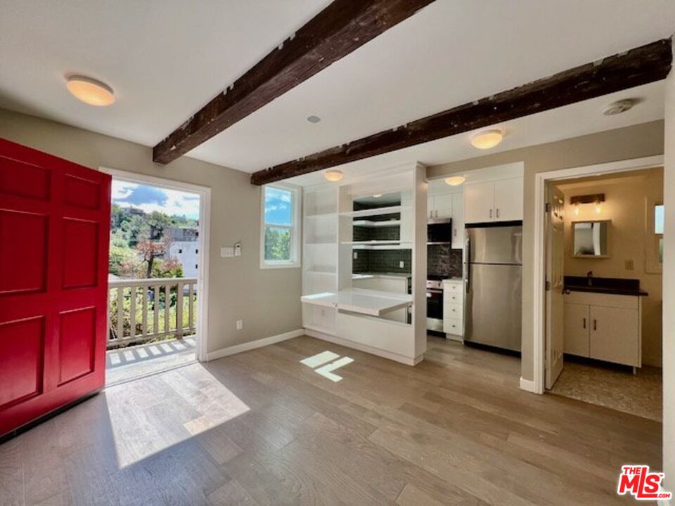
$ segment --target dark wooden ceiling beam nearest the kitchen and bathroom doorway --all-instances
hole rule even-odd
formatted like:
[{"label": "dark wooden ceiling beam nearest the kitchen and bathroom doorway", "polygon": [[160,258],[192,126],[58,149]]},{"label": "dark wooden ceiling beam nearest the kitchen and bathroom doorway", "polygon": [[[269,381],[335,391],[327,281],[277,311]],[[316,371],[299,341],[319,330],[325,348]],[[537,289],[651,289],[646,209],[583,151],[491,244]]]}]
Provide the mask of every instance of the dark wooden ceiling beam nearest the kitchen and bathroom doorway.
[{"label": "dark wooden ceiling beam nearest the kitchen and bathroom doorway", "polygon": [[396,129],[257,171],[252,174],[251,183],[273,183],[660,81],[667,76],[672,58],[671,39],[656,41]]}]

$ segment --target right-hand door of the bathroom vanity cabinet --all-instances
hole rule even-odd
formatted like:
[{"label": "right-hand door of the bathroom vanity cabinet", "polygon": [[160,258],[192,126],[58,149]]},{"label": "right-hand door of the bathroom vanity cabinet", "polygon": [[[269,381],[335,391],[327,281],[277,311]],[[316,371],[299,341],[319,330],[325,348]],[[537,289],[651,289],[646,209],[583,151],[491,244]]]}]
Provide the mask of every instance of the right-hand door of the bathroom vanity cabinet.
[{"label": "right-hand door of the bathroom vanity cabinet", "polygon": [[638,311],[590,307],[591,358],[640,367]]}]

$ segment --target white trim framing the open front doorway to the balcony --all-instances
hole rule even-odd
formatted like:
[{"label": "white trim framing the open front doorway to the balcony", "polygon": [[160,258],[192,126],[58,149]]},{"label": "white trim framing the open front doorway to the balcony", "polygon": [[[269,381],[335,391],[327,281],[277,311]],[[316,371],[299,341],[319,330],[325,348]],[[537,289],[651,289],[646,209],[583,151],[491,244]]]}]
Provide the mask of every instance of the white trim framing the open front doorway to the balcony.
[{"label": "white trim framing the open front doorway to the balcony", "polygon": [[98,170],[110,174],[115,179],[123,179],[131,183],[150,184],[167,188],[169,190],[189,191],[197,193],[200,196],[199,207],[199,235],[201,240],[200,252],[198,254],[198,265],[201,268],[197,277],[197,360],[203,362],[207,360],[207,349],[209,340],[209,260],[211,247],[211,188],[199,186],[183,181],[174,181],[172,179],[158,178],[139,174],[133,171],[124,171],[120,169],[110,169],[109,167],[98,167]]}]

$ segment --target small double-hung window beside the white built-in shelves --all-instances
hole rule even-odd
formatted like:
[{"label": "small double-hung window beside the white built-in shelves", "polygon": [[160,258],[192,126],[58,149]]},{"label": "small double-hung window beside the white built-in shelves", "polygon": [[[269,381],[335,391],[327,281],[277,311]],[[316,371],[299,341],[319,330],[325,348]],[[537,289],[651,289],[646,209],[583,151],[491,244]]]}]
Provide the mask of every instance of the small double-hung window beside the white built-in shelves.
[{"label": "small double-hung window beside the white built-in shelves", "polygon": [[300,266],[300,189],[268,185],[262,189],[260,267]]}]

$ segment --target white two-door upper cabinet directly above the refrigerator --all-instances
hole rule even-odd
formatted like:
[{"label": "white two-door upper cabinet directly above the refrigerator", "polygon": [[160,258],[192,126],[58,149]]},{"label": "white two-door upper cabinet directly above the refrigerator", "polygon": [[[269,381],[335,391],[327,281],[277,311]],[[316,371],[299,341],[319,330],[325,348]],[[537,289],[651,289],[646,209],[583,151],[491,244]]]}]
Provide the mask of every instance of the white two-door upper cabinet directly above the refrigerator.
[{"label": "white two-door upper cabinet directly above the refrigerator", "polygon": [[520,220],[522,177],[465,184],[465,223]]}]

